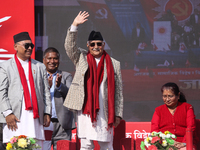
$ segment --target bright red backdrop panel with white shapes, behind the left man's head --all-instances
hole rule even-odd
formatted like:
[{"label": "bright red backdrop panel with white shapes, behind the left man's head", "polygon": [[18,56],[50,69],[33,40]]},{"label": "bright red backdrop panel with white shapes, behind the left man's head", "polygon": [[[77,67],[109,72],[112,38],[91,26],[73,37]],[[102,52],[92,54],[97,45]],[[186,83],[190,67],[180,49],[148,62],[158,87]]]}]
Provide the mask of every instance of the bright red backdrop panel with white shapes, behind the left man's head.
[{"label": "bright red backdrop panel with white shapes, behind the left man's head", "polygon": [[[0,1],[0,62],[14,56],[13,35],[27,31],[35,44],[34,0]],[[35,58],[35,52],[32,53]]]}]

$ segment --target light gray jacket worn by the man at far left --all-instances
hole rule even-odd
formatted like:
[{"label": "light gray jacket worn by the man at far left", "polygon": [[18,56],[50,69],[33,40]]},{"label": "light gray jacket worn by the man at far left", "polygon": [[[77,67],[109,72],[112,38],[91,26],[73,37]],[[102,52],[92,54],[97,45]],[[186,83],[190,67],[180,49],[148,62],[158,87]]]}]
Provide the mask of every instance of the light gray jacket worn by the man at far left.
[{"label": "light gray jacket worn by the man at far left", "polygon": [[[32,73],[37,95],[39,120],[43,124],[44,113],[51,114],[51,99],[44,64],[32,59]],[[0,64],[0,123],[6,123],[2,112],[10,109],[20,119],[24,96],[19,72],[14,58]]]}]

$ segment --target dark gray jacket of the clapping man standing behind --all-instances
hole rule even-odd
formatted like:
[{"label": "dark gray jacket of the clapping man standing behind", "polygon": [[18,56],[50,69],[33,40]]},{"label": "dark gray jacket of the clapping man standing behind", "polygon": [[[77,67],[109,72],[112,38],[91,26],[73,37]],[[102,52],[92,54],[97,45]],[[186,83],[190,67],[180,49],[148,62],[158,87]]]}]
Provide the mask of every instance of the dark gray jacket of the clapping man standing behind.
[{"label": "dark gray jacket of the clapping man standing behind", "polygon": [[61,70],[58,70],[58,73],[62,74],[62,80],[61,88],[59,90],[55,88],[54,91],[56,115],[58,117],[60,125],[65,130],[70,130],[76,127],[74,121],[74,114],[67,107],[63,106],[63,103],[72,82],[72,75],[68,72],[64,72]]}]

